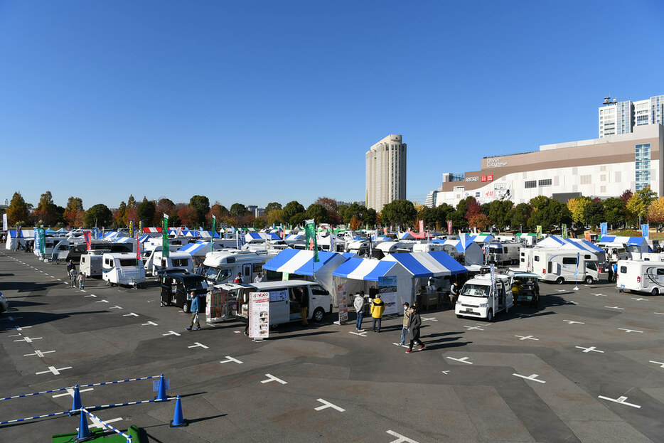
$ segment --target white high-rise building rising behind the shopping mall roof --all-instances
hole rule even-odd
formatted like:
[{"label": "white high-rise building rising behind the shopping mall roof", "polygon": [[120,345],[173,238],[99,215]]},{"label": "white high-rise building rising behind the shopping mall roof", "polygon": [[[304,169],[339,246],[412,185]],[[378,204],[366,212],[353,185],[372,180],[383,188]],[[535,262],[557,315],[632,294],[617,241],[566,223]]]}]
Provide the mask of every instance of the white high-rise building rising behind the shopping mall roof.
[{"label": "white high-rise building rising behind the shopping mall roof", "polygon": [[664,95],[655,95],[638,102],[619,102],[606,97],[599,107],[599,138],[616,134],[631,134],[634,127],[645,124],[664,124]]}]

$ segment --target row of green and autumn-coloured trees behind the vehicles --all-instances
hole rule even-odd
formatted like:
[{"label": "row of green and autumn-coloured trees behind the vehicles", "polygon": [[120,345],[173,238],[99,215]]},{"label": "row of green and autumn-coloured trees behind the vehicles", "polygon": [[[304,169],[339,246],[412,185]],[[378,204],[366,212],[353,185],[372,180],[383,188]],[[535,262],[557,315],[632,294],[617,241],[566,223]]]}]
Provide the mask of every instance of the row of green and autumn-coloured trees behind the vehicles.
[{"label": "row of green and autumn-coloured trees behind the vehicles", "polygon": [[596,227],[607,222],[611,228],[636,225],[647,220],[654,225],[664,223],[664,198],[649,188],[636,193],[625,191],[617,198],[577,197],[560,203],[552,198],[537,196],[528,203],[514,205],[511,201],[492,201],[480,205],[475,198],[468,197],[456,207],[446,203],[436,208],[427,208],[407,200],[395,200],[385,205],[380,213],[374,209],[353,203],[338,206],[328,197],[320,197],[304,208],[298,201],[269,203],[264,213],[255,217],[242,203],[233,203],[226,208],[218,201],[210,206],[206,196],[193,196],[189,203],[173,203],[168,198],[158,201],[146,197],[138,203],[134,196],[119,207],[110,210],[103,204],[96,204],[87,210],[81,198],[70,197],[67,206],[62,208],[53,203],[50,191],[41,195],[36,208],[26,203],[21,193],[16,192],[6,210],[10,225],[70,225],[73,227],[115,227],[124,228],[129,220],[143,220],[146,226],[159,226],[163,214],[169,215],[169,225],[186,225],[190,228],[210,228],[215,215],[217,225],[264,228],[271,225],[301,225],[304,220],[313,218],[317,224],[348,225],[351,229],[364,226],[393,226],[402,229],[416,227],[423,220],[429,229],[444,230],[451,220],[454,230],[477,228],[486,230],[521,229],[535,230],[542,226],[545,232],[567,224],[570,228]]}]

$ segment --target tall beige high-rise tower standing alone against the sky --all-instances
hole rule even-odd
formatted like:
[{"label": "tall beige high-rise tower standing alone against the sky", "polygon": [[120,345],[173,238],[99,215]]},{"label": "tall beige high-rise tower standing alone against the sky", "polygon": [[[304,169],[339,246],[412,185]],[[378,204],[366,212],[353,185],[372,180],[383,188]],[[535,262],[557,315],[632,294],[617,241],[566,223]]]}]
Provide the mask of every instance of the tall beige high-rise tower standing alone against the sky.
[{"label": "tall beige high-rise tower standing alone against the sky", "polygon": [[406,198],[406,144],[390,134],[367,151],[366,202],[377,212],[387,203]]}]

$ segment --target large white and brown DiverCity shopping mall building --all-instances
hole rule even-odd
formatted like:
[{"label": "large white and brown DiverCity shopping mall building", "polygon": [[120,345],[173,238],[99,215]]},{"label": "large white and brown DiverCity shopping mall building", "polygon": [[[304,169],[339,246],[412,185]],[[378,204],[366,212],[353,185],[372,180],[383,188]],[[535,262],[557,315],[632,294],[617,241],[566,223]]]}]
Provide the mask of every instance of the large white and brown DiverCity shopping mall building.
[{"label": "large white and brown DiverCity shopping mall building", "polygon": [[618,197],[651,188],[664,194],[664,126],[635,125],[627,134],[545,144],[526,154],[487,157],[478,171],[443,174],[443,183],[427,196],[427,206],[456,206],[473,196],[478,203],[510,200],[527,203],[547,196],[566,202],[577,196]]}]

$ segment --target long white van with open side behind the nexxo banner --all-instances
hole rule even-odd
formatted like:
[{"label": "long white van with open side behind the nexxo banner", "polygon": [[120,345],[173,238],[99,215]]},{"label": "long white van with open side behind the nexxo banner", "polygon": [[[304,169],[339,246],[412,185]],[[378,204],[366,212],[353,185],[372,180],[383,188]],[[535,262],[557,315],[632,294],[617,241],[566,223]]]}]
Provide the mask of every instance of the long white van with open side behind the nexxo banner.
[{"label": "long white van with open side behind the nexxo banner", "polygon": [[332,295],[315,282],[289,280],[284,282],[264,282],[246,286],[238,292],[237,317],[241,321],[249,319],[249,293],[269,292],[269,325],[301,321],[300,303],[302,297],[309,299],[307,320],[322,321],[332,312]]}]

